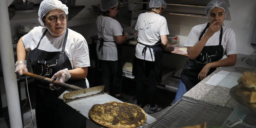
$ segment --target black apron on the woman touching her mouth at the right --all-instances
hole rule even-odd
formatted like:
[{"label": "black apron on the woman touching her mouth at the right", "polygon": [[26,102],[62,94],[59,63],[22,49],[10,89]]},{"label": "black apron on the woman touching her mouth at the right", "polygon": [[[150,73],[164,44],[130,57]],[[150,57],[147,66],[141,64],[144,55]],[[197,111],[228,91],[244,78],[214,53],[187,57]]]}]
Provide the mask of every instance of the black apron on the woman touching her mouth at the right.
[{"label": "black apron on the woman touching her mouth at the right", "polygon": [[[201,40],[204,32],[209,27],[208,23],[201,33],[199,40]],[[187,91],[197,85],[200,80],[198,80],[198,74],[201,72],[203,67],[210,62],[219,61],[223,56],[223,47],[221,45],[223,28],[221,26],[220,30],[220,41],[219,45],[215,46],[204,46],[201,53],[194,60],[187,59],[185,66],[181,72],[181,81],[185,84]],[[207,74],[211,74],[216,68],[211,68]]]}]

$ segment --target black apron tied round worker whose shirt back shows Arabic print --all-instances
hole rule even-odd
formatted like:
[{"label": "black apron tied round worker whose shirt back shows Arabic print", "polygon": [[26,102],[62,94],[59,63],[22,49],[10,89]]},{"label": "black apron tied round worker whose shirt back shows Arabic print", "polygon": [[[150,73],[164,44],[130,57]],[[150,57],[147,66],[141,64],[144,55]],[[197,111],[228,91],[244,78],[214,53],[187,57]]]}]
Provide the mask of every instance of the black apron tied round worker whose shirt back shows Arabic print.
[{"label": "black apron tied round worker whose shirt back shows Arabic print", "polygon": [[[154,66],[155,84],[161,83],[162,82],[162,42],[161,42],[161,40],[159,40],[153,46],[145,45],[145,44],[140,43],[140,42],[138,42],[138,43],[145,46],[142,50],[142,53],[144,54],[144,60],[145,60],[145,55],[146,55],[147,48],[150,51],[152,61],[153,61],[153,56],[152,56],[152,53],[151,53],[151,48],[155,52],[155,64],[154,64],[155,65]],[[136,65],[137,65],[137,62],[136,62],[136,56],[135,56],[135,53],[134,53],[134,58],[133,58],[133,63],[132,63],[132,75],[137,75]],[[144,67],[144,70],[145,70],[145,62],[143,63],[143,67]]]}]

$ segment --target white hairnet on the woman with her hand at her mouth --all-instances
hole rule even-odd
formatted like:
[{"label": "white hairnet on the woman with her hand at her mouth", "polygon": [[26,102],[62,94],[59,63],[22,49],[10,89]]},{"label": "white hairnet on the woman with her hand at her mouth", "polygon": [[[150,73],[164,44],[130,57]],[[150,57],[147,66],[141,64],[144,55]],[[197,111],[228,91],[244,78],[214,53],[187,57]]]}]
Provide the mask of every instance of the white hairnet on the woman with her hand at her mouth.
[{"label": "white hairnet on the woman with her hand at her mouth", "polygon": [[225,12],[225,18],[227,17],[227,3],[224,0],[212,0],[208,3],[208,5],[205,8],[205,13],[208,20],[210,11],[215,7],[222,8]]}]

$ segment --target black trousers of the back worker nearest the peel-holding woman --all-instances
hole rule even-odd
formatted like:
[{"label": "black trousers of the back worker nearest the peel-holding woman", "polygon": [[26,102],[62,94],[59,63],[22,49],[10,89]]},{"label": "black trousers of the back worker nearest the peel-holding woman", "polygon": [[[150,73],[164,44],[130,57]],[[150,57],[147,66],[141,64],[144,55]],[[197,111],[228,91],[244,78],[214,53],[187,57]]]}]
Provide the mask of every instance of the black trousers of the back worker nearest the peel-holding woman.
[{"label": "black trousers of the back worker nearest the peel-holding woman", "polygon": [[[105,92],[110,92],[110,88],[114,90],[115,94],[121,93],[121,83],[119,82],[120,76],[118,76],[118,62],[100,60],[102,68],[101,83],[105,85]],[[111,83],[111,73],[113,74]]]}]

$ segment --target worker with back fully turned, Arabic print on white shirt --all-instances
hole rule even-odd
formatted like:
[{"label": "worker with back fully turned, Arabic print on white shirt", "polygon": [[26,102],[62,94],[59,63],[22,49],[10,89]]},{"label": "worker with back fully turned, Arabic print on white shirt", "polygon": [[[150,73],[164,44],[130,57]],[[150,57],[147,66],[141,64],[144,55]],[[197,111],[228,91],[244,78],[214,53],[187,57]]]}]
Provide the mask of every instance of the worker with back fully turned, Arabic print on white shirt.
[{"label": "worker with back fully turned, Arabic print on white shirt", "polygon": [[162,45],[168,48],[169,35],[165,17],[161,16],[167,7],[163,0],[150,0],[150,12],[141,13],[135,30],[138,43],[136,44],[132,74],[137,77],[136,105],[142,107],[142,92],[145,77],[148,77],[148,95],[150,107],[148,113],[162,111],[162,107],[155,104],[156,85],[162,81]]}]

